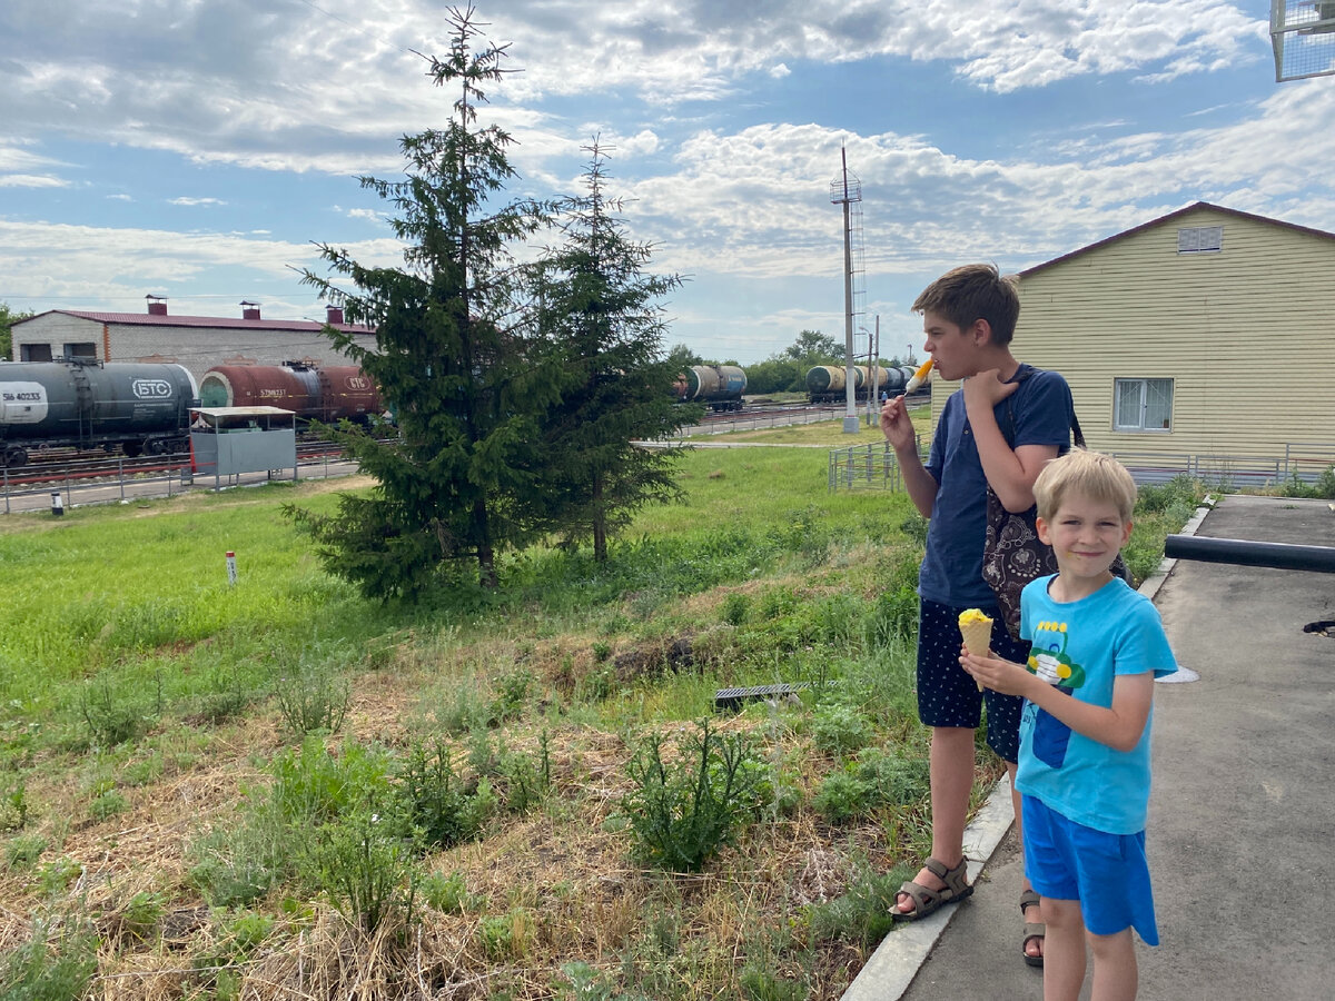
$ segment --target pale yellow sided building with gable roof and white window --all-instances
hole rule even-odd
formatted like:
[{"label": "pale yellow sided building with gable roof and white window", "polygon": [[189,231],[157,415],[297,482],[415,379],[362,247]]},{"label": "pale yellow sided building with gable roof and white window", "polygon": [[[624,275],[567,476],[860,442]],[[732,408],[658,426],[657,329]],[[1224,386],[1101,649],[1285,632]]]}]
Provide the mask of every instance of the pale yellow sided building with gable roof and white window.
[{"label": "pale yellow sided building with gable roof and white window", "polygon": [[1335,234],[1197,202],[1021,271],[1020,303],[1015,354],[1067,378],[1091,448],[1246,480],[1335,462]]}]

